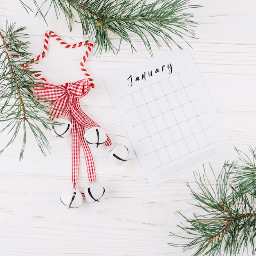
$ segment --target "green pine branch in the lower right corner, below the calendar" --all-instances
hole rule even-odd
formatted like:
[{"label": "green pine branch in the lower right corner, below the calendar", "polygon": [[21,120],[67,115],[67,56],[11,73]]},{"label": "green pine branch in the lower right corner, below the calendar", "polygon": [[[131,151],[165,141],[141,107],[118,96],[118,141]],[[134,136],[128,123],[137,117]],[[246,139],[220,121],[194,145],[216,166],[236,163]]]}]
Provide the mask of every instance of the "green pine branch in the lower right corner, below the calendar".
[{"label": "green pine branch in the lower right corner, below the calendar", "polygon": [[181,214],[187,225],[178,227],[187,235],[170,233],[173,237],[188,239],[189,242],[169,245],[183,247],[184,250],[196,248],[193,256],[236,256],[244,255],[245,252],[248,255],[250,247],[250,255],[255,255],[256,184],[255,180],[250,179],[250,175],[255,177],[255,149],[250,148],[252,159],[237,151],[240,160],[246,165],[226,161],[220,175],[216,177],[215,185],[209,182],[205,169],[202,175],[195,173],[195,182],[200,192],[195,192],[189,184],[188,187],[197,200],[194,205],[202,213],[194,213],[193,218],[186,218]]}]

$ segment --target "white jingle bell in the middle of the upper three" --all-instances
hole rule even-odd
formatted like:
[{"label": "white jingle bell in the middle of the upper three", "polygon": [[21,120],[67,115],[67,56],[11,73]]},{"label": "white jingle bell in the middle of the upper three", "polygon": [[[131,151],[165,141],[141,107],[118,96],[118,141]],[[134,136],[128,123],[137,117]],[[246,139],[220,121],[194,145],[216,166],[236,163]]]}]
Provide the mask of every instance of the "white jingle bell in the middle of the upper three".
[{"label": "white jingle bell in the middle of the upper three", "polygon": [[91,127],[85,132],[84,137],[88,144],[95,144],[97,148],[107,141],[106,132],[101,127]]}]

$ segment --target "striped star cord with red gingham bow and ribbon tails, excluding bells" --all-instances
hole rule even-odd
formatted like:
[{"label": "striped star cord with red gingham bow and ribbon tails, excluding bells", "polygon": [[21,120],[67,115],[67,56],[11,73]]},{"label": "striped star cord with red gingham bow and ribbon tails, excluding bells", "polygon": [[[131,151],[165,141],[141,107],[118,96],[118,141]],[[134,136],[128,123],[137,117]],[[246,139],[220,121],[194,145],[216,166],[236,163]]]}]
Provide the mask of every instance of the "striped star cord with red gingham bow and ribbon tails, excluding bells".
[{"label": "striped star cord with red gingham bow and ribbon tails, excluding bells", "polygon": [[[80,42],[74,45],[67,45],[67,43],[63,42],[61,38],[59,38],[54,32],[49,31],[49,33],[45,34],[45,44],[44,51],[41,55],[37,56],[36,60],[43,58],[45,53],[48,51],[48,42],[49,35],[54,37],[61,45],[64,45],[65,48],[75,48],[80,47],[82,45],[87,45],[87,50],[85,52],[85,56],[88,57],[89,52],[91,51],[92,43],[88,43],[88,41]],[[84,138],[84,127],[90,128],[92,126],[99,125],[95,123],[88,115],[83,112],[80,107],[79,99],[86,94],[88,94],[90,88],[94,88],[93,79],[90,74],[88,74],[87,70],[84,67],[84,63],[86,61],[86,57],[83,56],[83,62],[80,63],[81,70],[85,72],[86,78],[75,83],[65,83],[64,85],[52,85],[46,83],[46,79],[41,74],[37,74],[43,83],[38,83],[38,87],[34,88],[34,96],[38,101],[52,101],[52,106],[49,112],[52,114],[50,119],[57,118],[59,116],[68,116],[71,117],[72,123],[72,182],[73,187],[76,189],[76,183],[79,178],[79,164],[80,164],[80,144],[83,148],[83,152],[85,155],[85,161],[88,172],[88,180],[90,183],[96,182],[97,177],[95,173],[94,161],[92,157],[92,153],[88,144],[85,142]],[[32,60],[34,61],[34,59]],[[26,67],[26,65],[24,65]],[[110,138],[107,135],[106,146],[112,145]]]}]

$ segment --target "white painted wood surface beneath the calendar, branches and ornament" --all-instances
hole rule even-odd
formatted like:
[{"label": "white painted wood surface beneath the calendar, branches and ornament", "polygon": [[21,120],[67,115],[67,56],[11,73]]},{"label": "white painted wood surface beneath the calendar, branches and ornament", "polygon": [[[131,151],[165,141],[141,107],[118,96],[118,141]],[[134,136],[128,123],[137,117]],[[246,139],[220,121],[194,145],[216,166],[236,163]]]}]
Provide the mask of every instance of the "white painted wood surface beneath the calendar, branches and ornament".
[{"label": "white painted wood surface beneath the calendar, branches and ornament", "polygon": [[[31,2],[31,6],[33,1]],[[195,28],[199,39],[188,39],[195,64],[209,90],[218,114],[234,146],[247,150],[256,145],[256,2],[255,0],[191,0],[202,4],[194,9]],[[0,0],[0,28],[6,17],[26,26],[35,56],[43,47],[43,35],[51,29],[70,43],[83,40],[81,28],[72,33],[65,18],[56,19],[54,11],[47,16],[49,27],[35,13],[27,14],[18,0]],[[112,35],[118,43],[118,38]],[[196,211],[186,183],[194,183],[193,172],[155,188],[150,188],[124,127],[103,83],[103,78],[150,55],[134,36],[137,52],[131,54],[124,43],[117,56],[111,52],[100,57],[90,55],[86,67],[94,78],[95,88],[81,100],[85,112],[106,130],[115,143],[130,149],[130,160],[121,167],[108,162],[107,148],[92,150],[98,181],[106,185],[106,199],[101,203],[83,202],[79,209],[66,210],[60,193],[71,183],[71,138],[52,138],[52,153],[41,155],[34,139],[28,134],[25,155],[18,160],[20,142],[0,155],[0,255],[1,256],[189,256],[192,251],[170,247],[169,231],[182,235],[176,226]],[[154,55],[161,49],[152,42]],[[83,49],[66,50],[55,40],[38,69],[50,83],[65,83],[83,78],[79,60]],[[0,135],[1,147],[7,138]],[[81,153],[81,157],[83,153]],[[216,173],[226,158],[213,162]],[[202,171],[202,169],[199,169]],[[79,189],[88,184],[85,163],[81,160]],[[180,240],[180,242],[183,242]]]}]

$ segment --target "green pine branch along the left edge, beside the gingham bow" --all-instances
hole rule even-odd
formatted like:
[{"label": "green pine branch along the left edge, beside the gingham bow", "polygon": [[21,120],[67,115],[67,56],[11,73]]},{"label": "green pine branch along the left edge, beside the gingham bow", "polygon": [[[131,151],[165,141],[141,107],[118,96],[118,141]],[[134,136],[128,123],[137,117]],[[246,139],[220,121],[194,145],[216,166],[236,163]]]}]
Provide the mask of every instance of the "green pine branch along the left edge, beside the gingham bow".
[{"label": "green pine branch along the left edge, beside the gingham bow", "polygon": [[[26,124],[33,132],[44,155],[45,150],[49,150],[49,143],[38,124],[41,123],[45,128],[52,124],[47,118],[49,104],[40,104],[33,96],[36,84],[34,74],[37,71],[29,71],[32,57],[27,52],[29,43],[22,40],[28,36],[23,33],[24,30],[25,27],[15,29],[15,23],[9,23],[7,20],[6,30],[0,31],[0,121],[4,127],[0,133],[6,131],[10,136],[9,142],[0,150],[0,154],[13,143],[22,128],[20,159],[25,150]],[[22,67],[25,63],[28,64],[26,69]]]}]

